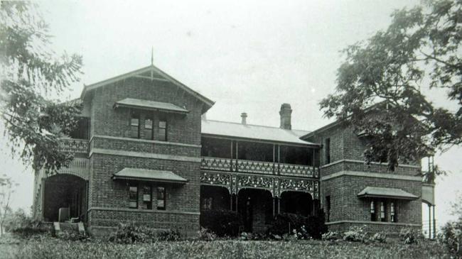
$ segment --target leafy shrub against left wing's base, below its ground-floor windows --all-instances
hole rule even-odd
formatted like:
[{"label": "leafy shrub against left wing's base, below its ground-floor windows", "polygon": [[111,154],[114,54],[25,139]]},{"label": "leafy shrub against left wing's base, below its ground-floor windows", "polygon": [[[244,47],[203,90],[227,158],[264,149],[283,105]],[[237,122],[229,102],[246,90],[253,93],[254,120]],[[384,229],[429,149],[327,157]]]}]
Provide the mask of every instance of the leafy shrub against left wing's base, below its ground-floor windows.
[{"label": "leafy shrub against left wing's base, below its ground-floor windows", "polygon": [[156,241],[154,229],[136,226],[133,223],[119,224],[117,231],[109,236],[109,241],[115,243],[150,243]]}]

